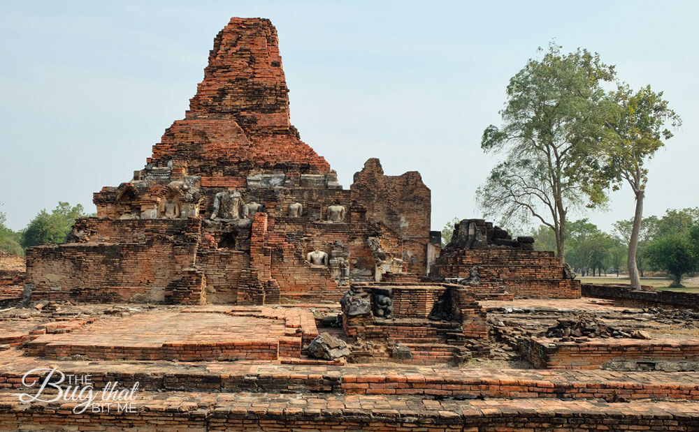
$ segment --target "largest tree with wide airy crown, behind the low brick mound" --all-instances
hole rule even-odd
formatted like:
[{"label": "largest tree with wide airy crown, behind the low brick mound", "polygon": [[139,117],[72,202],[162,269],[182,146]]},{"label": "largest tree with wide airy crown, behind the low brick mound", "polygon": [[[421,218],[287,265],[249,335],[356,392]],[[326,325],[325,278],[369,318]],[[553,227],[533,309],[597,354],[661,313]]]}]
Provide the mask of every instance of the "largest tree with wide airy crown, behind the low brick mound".
[{"label": "largest tree with wide airy crown, behind the low brick mound", "polygon": [[610,104],[602,83],[615,73],[598,54],[560,49],[549,45],[541,60],[530,59],[510,79],[503,126],[488,126],[481,141],[484,151],[504,154],[505,161],[477,197],[487,216],[500,215],[505,223],[533,217],[551,228],[565,262],[568,211],[607,201],[609,174],[599,149]]}]

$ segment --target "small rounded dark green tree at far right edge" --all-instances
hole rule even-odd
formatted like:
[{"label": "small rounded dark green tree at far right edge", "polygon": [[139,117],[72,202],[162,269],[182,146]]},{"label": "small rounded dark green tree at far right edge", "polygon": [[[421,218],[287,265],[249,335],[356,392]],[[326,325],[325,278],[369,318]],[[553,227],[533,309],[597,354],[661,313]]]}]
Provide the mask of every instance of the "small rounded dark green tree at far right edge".
[{"label": "small rounded dark green tree at far right edge", "polygon": [[668,272],[672,277],[671,287],[681,287],[682,276],[699,266],[696,252],[689,234],[670,232],[651,240],[644,254],[656,268]]}]

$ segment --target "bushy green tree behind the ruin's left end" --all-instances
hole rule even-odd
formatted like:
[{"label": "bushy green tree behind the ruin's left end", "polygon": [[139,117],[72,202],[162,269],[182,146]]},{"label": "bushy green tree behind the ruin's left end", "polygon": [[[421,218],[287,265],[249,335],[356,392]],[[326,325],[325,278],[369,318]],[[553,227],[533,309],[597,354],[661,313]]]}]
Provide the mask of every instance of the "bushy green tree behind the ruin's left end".
[{"label": "bushy green tree behind the ruin's left end", "polygon": [[30,248],[38,244],[63,243],[75,219],[85,216],[89,215],[83,212],[82,205],[71,207],[68,202],[59,201],[51,213],[43,209],[29,222],[22,233],[22,246]]}]

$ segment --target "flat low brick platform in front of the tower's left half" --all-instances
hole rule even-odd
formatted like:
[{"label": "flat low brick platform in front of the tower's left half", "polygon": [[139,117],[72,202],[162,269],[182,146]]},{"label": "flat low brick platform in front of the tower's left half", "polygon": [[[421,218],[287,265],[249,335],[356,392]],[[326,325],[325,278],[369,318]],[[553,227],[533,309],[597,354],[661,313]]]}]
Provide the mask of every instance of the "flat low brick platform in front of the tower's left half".
[{"label": "flat low brick platform in front of the tower's left half", "polygon": [[102,318],[66,334],[27,343],[30,355],[56,359],[239,360],[301,357],[317,336],[312,313],[291,308],[197,308]]}]

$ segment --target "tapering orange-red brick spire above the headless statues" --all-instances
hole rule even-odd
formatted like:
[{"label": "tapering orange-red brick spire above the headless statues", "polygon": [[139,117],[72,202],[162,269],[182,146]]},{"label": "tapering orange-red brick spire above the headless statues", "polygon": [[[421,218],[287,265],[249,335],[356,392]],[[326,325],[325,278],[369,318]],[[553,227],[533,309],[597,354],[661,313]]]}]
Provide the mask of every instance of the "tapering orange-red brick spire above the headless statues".
[{"label": "tapering orange-red brick spire above the headless statues", "polygon": [[229,178],[210,186],[261,172],[330,172],[289,123],[288,93],[272,23],[233,18],[214,40],[185,119],[165,131],[148,162],[173,161],[192,175]]}]

